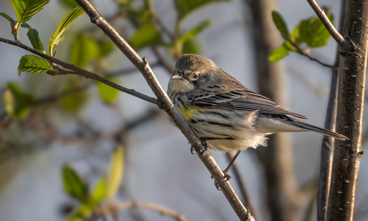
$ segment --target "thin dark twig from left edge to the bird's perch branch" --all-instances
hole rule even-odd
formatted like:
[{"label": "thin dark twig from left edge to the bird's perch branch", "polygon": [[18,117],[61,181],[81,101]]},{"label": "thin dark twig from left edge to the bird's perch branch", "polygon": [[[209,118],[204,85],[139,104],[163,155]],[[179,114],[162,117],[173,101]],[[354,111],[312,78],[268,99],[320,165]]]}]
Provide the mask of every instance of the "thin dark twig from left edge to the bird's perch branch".
[{"label": "thin dark twig from left edge to the bird's perch branch", "polygon": [[137,97],[137,98],[140,98],[144,101],[148,101],[152,104],[157,104],[157,99],[156,98],[153,98],[153,97],[149,97],[145,94],[142,94],[142,93],[139,93],[138,91],[135,91],[133,89],[128,89],[128,88],[125,88],[123,86],[120,86],[112,81],[109,81],[99,75],[96,75],[95,73],[92,73],[92,72],[89,72],[87,70],[84,70],[84,69],[81,69],[81,68],[78,68],[77,66],[75,65],[72,65],[72,64],[68,64],[64,61],[61,61],[59,59],[56,59],[50,55],[47,55],[47,54],[44,54],[40,51],[37,51],[31,47],[28,47],[26,46],[25,44],[22,44],[21,42],[19,41],[12,41],[12,40],[8,40],[8,39],[4,39],[2,37],[0,37],[0,41],[4,42],[4,43],[7,43],[7,44],[12,44],[14,46],[17,46],[17,47],[20,47],[20,48],[23,48],[29,52],[32,52],[33,54],[36,54],[36,55],[39,55],[40,57],[43,57],[43,58],[46,58],[48,59],[50,62],[52,63],[55,63],[55,64],[58,64],[58,65],[61,65],[63,66],[64,68],[67,68],[67,69],[70,69],[70,70],[73,70],[73,71],[69,71],[69,72],[64,72],[63,74],[73,74],[73,75],[80,75],[80,76],[84,76],[85,78],[90,78],[90,79],[94,79],[94,80],[98,80],[104,84],[107,84],[109,85],[110,87],[113,87],[113,88],[116,88],[117,90],[119,91],[122,91],[124,93],[127,93],[127,94],[130,94],[130,95],[133,95],[134,97]]}]

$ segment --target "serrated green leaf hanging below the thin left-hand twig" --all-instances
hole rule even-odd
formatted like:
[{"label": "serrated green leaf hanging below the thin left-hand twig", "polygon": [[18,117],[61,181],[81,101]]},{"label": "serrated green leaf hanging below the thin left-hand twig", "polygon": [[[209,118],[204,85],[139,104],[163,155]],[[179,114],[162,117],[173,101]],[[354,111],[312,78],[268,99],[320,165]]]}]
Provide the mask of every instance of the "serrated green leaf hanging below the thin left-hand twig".
[{"label": "serrated green leaf hanging below the thin left-hand twig", "polygon": [[45,71],[53,70],[49,62],[45,58],[40,58],[36,55],[24,55],[18,66],[18,75],[22,72],[41,73]]}]

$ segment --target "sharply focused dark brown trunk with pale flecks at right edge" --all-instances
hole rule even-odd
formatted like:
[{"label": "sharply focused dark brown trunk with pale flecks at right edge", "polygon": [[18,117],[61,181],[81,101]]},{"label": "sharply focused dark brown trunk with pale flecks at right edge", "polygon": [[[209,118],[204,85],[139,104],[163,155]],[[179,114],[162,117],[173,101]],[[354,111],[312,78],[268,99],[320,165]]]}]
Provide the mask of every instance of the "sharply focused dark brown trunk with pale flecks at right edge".
[{"label": "sharply focused dark brown trunk with pale flecks at right edge", "polygon": [[367,73],[368,0],[347,0],[343,36],[356,46],[340,52],[337,132],[351,140],[335,141],[327,220],[353,220],[361,152],[365,78]]}]

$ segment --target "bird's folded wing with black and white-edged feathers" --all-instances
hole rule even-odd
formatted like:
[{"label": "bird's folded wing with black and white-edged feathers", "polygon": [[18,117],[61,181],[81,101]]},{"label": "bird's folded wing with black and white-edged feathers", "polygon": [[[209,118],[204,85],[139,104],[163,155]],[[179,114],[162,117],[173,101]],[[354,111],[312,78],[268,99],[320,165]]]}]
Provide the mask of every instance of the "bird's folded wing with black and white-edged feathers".
[{"label": "bird's folded wing with black and white-edged feathers", "polygon": [[271,99],[245,88],[227,93],[199,95],[191,100],[191,104],[205,108],[219,108],[236,111],[258,111],[263,114],[291,115],[307,119],[305,116],[286,111]]}]

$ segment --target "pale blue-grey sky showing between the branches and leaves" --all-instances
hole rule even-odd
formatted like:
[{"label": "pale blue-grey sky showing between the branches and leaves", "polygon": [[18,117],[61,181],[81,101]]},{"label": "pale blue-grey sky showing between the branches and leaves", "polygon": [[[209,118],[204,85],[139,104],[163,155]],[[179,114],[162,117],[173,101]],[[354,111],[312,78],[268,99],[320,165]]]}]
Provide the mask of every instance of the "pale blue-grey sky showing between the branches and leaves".
[{"label": "pale blue-grey sky showing between the branches and leaves", "polygon": [[[154,0],[153,2],[164,25],[173,30],[175,12],[172,1]],[[332,13],[338,20],[340,4],[337,1],[319,0],[318,3],[321,6],[332,6]],[[112,0],[96,0],[95,4],[102,15],[114,13],[115,6]],[[1,1],[0,8],[0,12],[6,12],[15,18],[13,8],[8,1]],[[27,22],[39,31],[40,39],[45,47],[49,36],[67,13],[67,10],[58,1],[52,0],[45,9]],[[289,29],[292,29],[301,19],[315,16],[307,1],[280,0],[277,10],[286,19]],[[190,28],[206,18],[211,18],[213,22],[198,36],[203,47],[202,54],[212,59],[246,87],[257,91],[249,8],[244,7],[242,0],[210,4],[191,14],[186,19],[184,28]],[[57,50],[59,50],[56,57],[65,58],[67,56],[68,50],[65,47],[70,47],[72,40],[68,39],[69,33],[92,25],[86,15],[78,18],[78,21],[73,23],[64,34],[64,40],[57,46]],[[0,30],[0,37],[13,39],[9,23],[2,17],[0,18]],[[25,29],[21,29],[21,32],[20,41],[31,45],[25,35]],[[281,37],[275,41],[282,43]],[[31,73],[22,73],[22,76],[18,77],[17,67],[19,59],[29,53],[5,43],[0,43],[0,51],[1,87],[8,81],[26,83],[25,81],[29,80],[27,75],[31,75]],[[318,57],[328,64],[333,63],[335,53],[336,43],[332,39],[326,47],[311,51],[312,56]],[[139,51],[139,54],[141,57],[147,57],[151,62],[155,60],[150,50]],[[298,70],[300,74],[308,77],[320,87],[328,88],[330,83],[329,69],[295,53],[290,54],[280,63],[286,73],[284,87],[286,90],[285,100],[288,105],[283,107],[307,116],[309,120],[306,122],[323,127],[327,100],[321,98],[287,72],[290,69]],[[114,70],[132,67],[130,62],[123,58],[117,50],[110,56],[107,65],[112,65]],[[170,75],[160,67],[154,68],[153,71],[166,90]],[[45,78],[63,77],[52,77],[45,73],[33,75],[41,75],[38,78],[40,79],[39,84],[42,84],[42,79]],[[153,96],[139,72],[121,77],[121,84]],[[92,91],[95,91],[96,94],[96,89],[92,89]],[[147,108],[155,108],[154,105],[128,94],[121,93],[119,99],[116,111],[121,112],[120,115],[104,106],[97,98],[91,99],[81,115],[96,125],[96,128],[109,131],[112,128],[118,128],[119,125],[116,122],[134,119],[134,117],[144,113]],[[116,119],[118,120],[116,121]],[[364,128],[366,126],[367,124],[364,123]],[[72,124],[64,123],[64,127],[67,133]],[[21,139],[22,134],[19,136]],[[294,133],[292,138],[296,175],[298,183],[302,185],[318,175],[322,135],[311,132]],[[190,145],[187,140],[173,126],[167,116],[162,115],[162,117],[134,129],[128,134],[127,141],[126,164],[128,170],[125,171],[123,181],[125,195],[120,195],[120,199],[160,203],[183,213],[189,220],[237,220],[236,214],[222,192],[217,191],[213,186],[209,172],[196,155],[190,154]],[[112,143],[110,142],[89,145],[88,148],[78,144],[68,147],[53,144],[42,147],[38,151],[11,156],[5,162],[1,162],[0,173],[3,173],[5,177],[5,180],[0,183],[1,220],[63,220],[59,212],[61,205],[74,201],[63,191],[60,167],[65,162],[70,162],[88,181],[94,183],[98,175],[106,173],[111,149]],[[243,151],[238,157],[237,163],[243,169],[245,182],[261,220],[269,220],[268,214],[263,209],[266,203],[263,171],[258,159],[251,152]],[[212,154],[222,168],[227,166],[224,153],[212,152]],[[355,221],[366,220],[368,215],[367,159],[365,155],[361,159]],[[231,184],[237,190],[234,180]],[[147,217],[146,220],[172,220],[171,217],[164,217],[156,212],[139,210],[138,213]],[[122,218],[131,220],[128,214],[129,212],[125,211]]]}]

